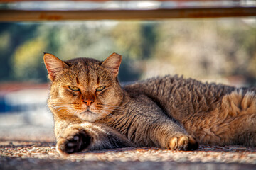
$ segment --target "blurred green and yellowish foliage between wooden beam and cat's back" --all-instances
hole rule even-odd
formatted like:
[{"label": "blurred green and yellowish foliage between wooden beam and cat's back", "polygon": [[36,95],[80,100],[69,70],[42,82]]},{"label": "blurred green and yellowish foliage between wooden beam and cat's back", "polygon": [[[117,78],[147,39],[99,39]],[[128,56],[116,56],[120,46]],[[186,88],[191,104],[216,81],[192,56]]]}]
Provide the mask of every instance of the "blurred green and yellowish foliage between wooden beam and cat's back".
[{"label": "blurred green and yellowish foliage between wooden beam and cat's back", "polygon": [[[241,18],[0,23],[1,81],[47,81],[43,52],[67,60],[122,55],[121,81],[158,74],[256,77],[256,23]],[[251,84],[254,82],[251,81]]]}]

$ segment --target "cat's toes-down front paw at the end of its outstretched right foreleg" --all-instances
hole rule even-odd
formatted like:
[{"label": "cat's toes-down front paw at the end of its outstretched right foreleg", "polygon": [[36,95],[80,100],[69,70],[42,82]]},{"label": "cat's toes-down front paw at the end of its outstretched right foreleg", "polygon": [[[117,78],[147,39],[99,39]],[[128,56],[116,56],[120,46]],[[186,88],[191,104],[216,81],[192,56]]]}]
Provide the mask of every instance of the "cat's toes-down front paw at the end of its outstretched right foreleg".
[{"label": "cat's toes-down front paw at the end of its outstretched right foreleg", "polygon": [[169,149],[172,150],[196,150],[198,149],[198,142],[191,136],[178,136],[171,138],[169,142]]}]

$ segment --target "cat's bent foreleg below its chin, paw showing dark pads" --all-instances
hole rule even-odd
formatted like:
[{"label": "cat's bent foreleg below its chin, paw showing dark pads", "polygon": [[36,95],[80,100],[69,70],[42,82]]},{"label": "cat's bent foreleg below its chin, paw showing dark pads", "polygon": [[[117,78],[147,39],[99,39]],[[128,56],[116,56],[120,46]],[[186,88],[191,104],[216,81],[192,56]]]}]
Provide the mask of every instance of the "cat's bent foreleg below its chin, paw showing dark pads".
[{"label": "cat's bent foreleg below its chin, paw showing dark pads", "polygon": [[119,132],[105,125],[81,123],[69,125],[57,139],[56,149],[62,154],[80,152],[84,149],[113,149],[133,147],[134,144]]}]

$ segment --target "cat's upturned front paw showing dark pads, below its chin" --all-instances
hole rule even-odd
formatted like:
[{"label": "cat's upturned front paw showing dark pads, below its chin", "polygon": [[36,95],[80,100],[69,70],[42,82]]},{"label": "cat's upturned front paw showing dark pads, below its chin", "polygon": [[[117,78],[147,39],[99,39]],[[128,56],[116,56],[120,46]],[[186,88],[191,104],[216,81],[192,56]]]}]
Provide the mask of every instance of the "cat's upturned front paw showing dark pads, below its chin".
[{"label": "cat's upturned front paw showing dark pads, below its chin", "polygon": [[90,142],[91,137],[87,135],[85,130],[74,129],[69,135],[58,140],[56,148],[61,155],[67,155],[86,149]]}]

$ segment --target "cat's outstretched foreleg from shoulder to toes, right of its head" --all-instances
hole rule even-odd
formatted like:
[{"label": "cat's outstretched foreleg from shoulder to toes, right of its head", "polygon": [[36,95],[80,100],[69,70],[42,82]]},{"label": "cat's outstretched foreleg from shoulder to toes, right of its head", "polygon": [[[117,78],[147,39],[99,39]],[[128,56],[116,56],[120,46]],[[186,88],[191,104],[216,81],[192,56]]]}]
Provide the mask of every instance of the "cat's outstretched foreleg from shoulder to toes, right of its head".
[{"label": "cat's outstretched foreleg from shoulder to toes, right of its head", "polygon": [[[166,115],[157,104],[144,95],[129,103],[129,117],[120,118],[115,127],[129,127],[127,137],[138,146],[174,150],[198,149],[198,142],[186,130]],[[128,125],[125,125],[128,124]],[[119,129],[123,129],[120,127]]]}]

